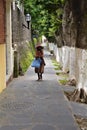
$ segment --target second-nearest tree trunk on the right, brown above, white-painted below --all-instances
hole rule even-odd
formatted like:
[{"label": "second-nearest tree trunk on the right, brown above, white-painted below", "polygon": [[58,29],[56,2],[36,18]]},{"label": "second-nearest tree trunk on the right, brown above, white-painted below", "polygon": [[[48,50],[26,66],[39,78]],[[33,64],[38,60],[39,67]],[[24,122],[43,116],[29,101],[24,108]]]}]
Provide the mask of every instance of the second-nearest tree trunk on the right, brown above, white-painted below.
[{"label": "second-nearest tree trunk on the right, brown above, white-painted below", "polygon": [[62,22],[62,28],[63,28],[63,41],[64,41],[64,47],[63,47],[63,72],[67,73],[69,72],[69,49],[70,47],[70,22],[71,22],[71,13],[70,13],[70,6],[69,2],[67,1],[64,7],[64,13],[63,13],[63,22]]}]

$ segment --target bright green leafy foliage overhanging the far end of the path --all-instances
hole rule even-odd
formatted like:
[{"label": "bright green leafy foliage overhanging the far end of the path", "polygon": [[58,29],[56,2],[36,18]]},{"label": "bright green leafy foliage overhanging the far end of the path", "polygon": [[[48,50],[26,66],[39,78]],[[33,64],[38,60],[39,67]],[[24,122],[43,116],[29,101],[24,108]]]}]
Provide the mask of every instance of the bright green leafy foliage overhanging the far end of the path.
[{"label": "bright green leafy foliage overhanging the far end of the path", "polygon": [[55,40],[55,33],[62,26],[65,0],[24,0],[25,13],[32,18],[32,35],[45,35],[49,41]]}]

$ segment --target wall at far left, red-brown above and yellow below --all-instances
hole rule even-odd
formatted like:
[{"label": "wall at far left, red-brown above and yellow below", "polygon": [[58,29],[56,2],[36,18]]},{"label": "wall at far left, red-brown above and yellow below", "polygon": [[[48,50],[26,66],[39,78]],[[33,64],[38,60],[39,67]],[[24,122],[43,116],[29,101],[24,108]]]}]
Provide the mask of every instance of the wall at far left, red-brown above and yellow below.
[{"label": "wall at far left, red-brown above and yellow below", "polygon": [[5,1],[0,0],[0,92],[6,87]]}]

